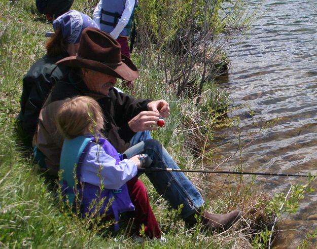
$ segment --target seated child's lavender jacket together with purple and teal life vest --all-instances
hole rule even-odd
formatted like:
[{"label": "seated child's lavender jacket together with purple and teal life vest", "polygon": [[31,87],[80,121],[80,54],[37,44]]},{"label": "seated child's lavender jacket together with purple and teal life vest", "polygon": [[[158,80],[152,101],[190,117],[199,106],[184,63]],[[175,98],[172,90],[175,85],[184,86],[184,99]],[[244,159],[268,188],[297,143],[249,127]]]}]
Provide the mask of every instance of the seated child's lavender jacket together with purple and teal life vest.
[{"label": "seated child's lavender jacket together with purple and teal life vest", "polygon": [[[95,202],[104,198],[103,202],[99,203],[100,208],[97,212],[100,215],[113,214],[118,221],[119,213],[134,210],[126,182],[136,175],[137,167],[131,160],[123,159],[107,139],[90,139],[88,144],[87,137],[84,136],[64,140],[60,160],[60,167],[63,169],[63,189],[71,202],[78,193],[84,217],[95,214]],[[85,141],[87,145],[82,152],[78,152],[78,148],[83,147],[81,145]],[[74,186],[74,180],[70,175],[76,163],[77,179],[80,181]],[[102,188],[100,183],[103,183]],[[91,205],[92,203],[94,204]],[[118,229],[117,224],[115,229]]]}]

